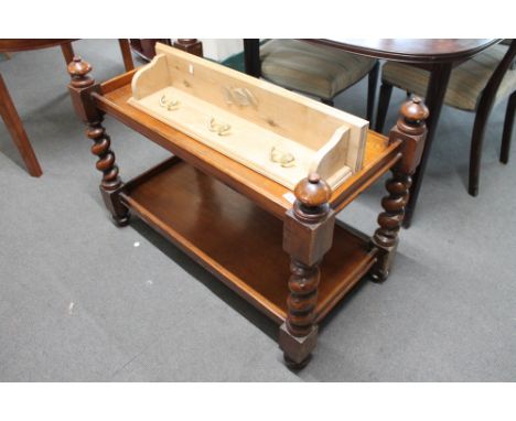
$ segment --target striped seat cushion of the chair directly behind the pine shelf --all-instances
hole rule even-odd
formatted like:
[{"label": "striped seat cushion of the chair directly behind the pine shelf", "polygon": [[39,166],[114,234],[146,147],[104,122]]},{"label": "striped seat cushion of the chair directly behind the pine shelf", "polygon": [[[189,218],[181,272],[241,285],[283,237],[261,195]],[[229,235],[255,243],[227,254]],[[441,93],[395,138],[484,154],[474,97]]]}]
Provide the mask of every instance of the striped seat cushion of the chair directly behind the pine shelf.
[{"label": "striped seat cushion of the chair directly behind the pine shelf", "polygon": [[260,47],[261,75],[288,89],[331,99],[361,80],[376,60],[298,40],[271,40]]}]

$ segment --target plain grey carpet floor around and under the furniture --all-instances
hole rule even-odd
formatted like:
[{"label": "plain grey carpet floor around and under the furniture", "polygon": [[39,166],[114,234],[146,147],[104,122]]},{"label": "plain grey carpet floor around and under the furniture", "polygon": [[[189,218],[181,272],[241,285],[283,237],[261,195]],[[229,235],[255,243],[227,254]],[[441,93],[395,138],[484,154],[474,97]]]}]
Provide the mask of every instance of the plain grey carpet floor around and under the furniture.
[{"label": "plain grey carpet floor around and under the furniture", "polygon": [[[75,48],[99,80],[123,69],[116,41]],[[516,155],[497,161],[505,102],[487,127],[476,198],[465,191],[473,115],[443,109],[390,279],[363,281],[294,374],[265,316],[142,223],[110,223],[60,48],[15,54],[0,72],[44,171],[28,175],[0,125],[0,380],[516,379]],[[337,106],[364,116],[365,94],[363,82]],[[395,93],[387,126],[404,98]],[[106,127],[126,180],[168,156]],[[340,218],[373,233],[383,195],[377,183]]]}]

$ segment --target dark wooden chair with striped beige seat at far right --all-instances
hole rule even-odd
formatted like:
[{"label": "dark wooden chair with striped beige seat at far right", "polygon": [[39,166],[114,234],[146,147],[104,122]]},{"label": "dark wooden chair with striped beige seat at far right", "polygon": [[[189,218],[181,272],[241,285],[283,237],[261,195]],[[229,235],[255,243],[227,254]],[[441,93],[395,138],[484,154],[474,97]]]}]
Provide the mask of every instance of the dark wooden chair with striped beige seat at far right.
[{"label": "dark wooden chair with striped beige seat at far right", "polygon": [[[501,162],[508,162],[516,109],[516,41],[496,44],[455,67],[450,76],[444,104],[476,112],[470,151],[469,193],[479,194],[480,164],[485,126],[492,108],[509,97],[504,122]],[[429,72],[407,64],[387,62],[381,71],[376,131],[384,128],[393,86],[424,96]]]}]

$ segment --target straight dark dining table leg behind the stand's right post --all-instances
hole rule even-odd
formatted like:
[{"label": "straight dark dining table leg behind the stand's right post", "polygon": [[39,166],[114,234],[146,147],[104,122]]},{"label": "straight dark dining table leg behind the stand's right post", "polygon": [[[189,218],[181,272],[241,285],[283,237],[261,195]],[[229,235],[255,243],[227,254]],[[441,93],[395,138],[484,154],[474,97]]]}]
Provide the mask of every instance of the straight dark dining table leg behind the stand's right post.
[{"label": "straight dark dining table leg behind the stand's right post", "polygon": [[430,73],[430,83],[427,89],[427,97],[424,102],[430,110],[430,117],[427,120],[427,140],[421,158],[421,163],[412,177],[412,187],[410,188],[410,198],[405,213],[404,227],[410,227],[416,204],[418,202],[419,191],[421,188],[424,170],[427,168],[428,156],[432,147],[433,136],[436,134],[439,116],[441,115],[442,104],[444,102],[444,95],[450,80],[452,69],[451,63],[436,64]]}]

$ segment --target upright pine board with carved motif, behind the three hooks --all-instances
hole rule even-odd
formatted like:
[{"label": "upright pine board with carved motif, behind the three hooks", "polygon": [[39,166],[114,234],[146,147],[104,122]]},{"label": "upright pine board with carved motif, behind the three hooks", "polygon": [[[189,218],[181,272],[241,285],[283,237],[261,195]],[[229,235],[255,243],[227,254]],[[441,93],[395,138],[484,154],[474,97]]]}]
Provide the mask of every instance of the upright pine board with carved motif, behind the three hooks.
[{"label": "upright pine board with carved motif, behind the three hooks", "polygon": [[[169,45],[157,44],[157,54],[166,56],[170,82],[174,87],[227,109],[267,130],[295,139],[308,148],[321,148],[343,125],[351,126],[351,143],[358,147],[364,141],[367,121],[356,116]],[[193,66],[193,73],[190,72],[190,65]],[[258,107],[228,105],[223,87],[249,89]]]}]

